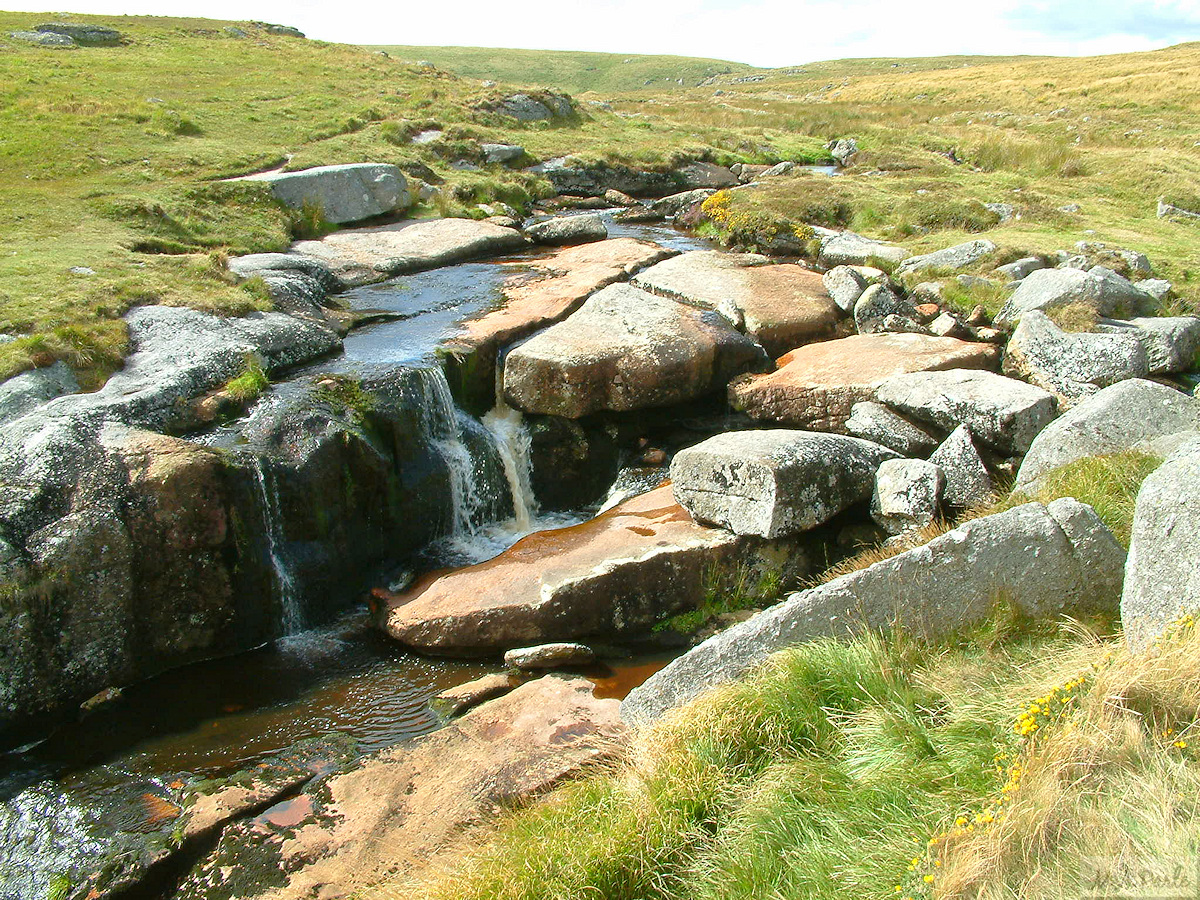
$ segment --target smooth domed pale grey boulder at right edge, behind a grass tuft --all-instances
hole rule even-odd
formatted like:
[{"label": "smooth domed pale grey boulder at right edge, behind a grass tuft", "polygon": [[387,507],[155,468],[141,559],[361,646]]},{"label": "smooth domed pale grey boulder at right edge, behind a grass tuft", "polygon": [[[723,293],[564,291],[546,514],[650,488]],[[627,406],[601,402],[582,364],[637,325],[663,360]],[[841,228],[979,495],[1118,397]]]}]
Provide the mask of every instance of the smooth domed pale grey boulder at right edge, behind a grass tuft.
[{"label": "smooth domed pale grey boulder at right edge, behind a grass tuft", "polygon": [[1016,487],[1036,490],[1039,478],[1086,456],[1130,450],[1139,443],[1200,428],[1200,401],[1172,388],[1135,378],[1093,394],[1038,434]]}]

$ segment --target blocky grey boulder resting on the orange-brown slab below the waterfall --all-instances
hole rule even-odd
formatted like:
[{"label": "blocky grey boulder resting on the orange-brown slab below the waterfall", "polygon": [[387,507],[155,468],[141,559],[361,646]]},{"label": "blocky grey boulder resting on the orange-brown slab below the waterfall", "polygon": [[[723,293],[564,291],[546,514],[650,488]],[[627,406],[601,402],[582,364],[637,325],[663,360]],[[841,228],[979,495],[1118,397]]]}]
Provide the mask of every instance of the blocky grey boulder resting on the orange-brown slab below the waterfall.
[{"label": "blocky grey boulder resting on the orange-brown slab below the waterfall", "polygon": [[676,500],[700,522],[779,538],[827,522],[871,497],[875,470],[894,451],[811,431],[738,431],[679,451]]}]

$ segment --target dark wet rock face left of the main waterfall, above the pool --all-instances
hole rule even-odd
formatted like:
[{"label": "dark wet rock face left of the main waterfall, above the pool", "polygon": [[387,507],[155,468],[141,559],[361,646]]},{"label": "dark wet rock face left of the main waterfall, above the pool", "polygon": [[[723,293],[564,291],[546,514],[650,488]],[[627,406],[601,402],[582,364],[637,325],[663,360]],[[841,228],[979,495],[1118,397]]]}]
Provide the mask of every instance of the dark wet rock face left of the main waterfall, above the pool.
[{"label": "dark wet rock face left of the main waterfall, above the pool", "polygon": [[[37,452],[23,468],[11,444],[0,458],[12,594],[0,742],[106,688],[276,637],[281,565],[317,620],[376,565],[445,534],[450,473],[424,386],[400,370],[349,394],[316,390],[263,416],[239,454],[115,422],[22,420],[12,437]],[[503,482],[494,456],[478,449],[480,475]],[[505,515],[506,496],[491,502]]]}]

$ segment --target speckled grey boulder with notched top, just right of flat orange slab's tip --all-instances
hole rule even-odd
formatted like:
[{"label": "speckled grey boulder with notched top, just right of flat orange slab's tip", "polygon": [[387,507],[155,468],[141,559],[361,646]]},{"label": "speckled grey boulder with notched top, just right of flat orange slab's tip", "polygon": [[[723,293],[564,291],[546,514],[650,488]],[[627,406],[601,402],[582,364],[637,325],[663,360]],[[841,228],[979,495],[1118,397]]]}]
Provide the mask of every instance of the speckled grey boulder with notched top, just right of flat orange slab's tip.
[{"label": "speckled grey boulder with notched top, just right of flat orange slab's tip", "polygon": [[1003,371],[1073,403],[1110,384],[1144,378],[1150,366],[1134,334],[1068,332],[1030,310],[1008,341]]}]

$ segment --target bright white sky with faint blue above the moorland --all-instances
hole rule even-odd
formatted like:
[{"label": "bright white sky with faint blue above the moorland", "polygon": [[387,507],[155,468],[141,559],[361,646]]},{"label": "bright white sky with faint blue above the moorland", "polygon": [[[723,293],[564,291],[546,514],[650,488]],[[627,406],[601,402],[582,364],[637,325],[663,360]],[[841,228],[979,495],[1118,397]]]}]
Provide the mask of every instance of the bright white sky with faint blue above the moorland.
[{"label": "bright white sky with faint blue above the moorland", "polygon": [[[70,0],[80,13],[295,25],[323,41],[709,56],[1094,55],[1200,40],[1200,0]],[[47,2],[0,0],[13,11]],[[203,11],[203,12],[202,12]]]}]

